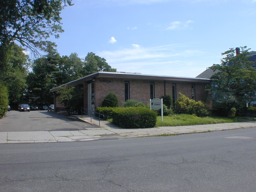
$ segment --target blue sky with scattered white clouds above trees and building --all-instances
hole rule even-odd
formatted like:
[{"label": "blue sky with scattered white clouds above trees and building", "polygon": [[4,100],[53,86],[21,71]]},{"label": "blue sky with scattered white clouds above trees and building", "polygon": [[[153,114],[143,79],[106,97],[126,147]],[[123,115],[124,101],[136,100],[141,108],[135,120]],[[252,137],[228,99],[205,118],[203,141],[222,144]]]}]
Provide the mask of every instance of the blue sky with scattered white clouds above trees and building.
[{"label": "blue sky with scattered white clouds above trees and building", "polygon": [[88,52],[119,72],[196,77],[221,53],[256,51],[256,0],[73,0],[62,13],[61,56]]}]

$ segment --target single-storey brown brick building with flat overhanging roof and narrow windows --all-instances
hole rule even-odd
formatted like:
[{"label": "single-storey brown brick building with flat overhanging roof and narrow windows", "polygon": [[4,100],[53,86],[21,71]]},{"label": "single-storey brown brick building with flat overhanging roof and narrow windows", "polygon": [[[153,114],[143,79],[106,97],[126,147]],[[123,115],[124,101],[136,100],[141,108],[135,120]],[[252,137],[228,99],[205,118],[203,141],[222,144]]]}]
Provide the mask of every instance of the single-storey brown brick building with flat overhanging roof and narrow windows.
[{"label": "single-storey brown brick building with flat overhanging roof and narrow windows", "polygon": [[[175,102],[179,92],[190,99],[204,101],[207,96],[205,86],[210,82],[210,79],[205,78],[146,75],[131,72],[96,72],[59,87],[83,86],[84,106],[81,107],[95,109],[101,106],[102,100],[109,92],[117,95],[120,106],[123,106],[123,103],[129,99],[148,104],[150,99],[161,98],[166,94],[171,95]],[[59,87],[50,90],[55,93],[56,109],[62,107],[57,101],[56,91]],[[208,107],[211,108],[211,104]]]}]

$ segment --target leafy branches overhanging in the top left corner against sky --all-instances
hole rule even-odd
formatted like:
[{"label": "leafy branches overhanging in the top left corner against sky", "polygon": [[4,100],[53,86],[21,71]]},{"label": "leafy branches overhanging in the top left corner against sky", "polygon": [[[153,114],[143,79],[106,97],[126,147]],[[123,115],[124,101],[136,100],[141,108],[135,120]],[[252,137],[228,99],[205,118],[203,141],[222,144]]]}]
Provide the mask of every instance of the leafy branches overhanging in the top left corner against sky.
[{"label": "leafy branches overhanging in the top left corner against sky", "polygon": [[5,0],[0,1],[0,50],[17,41],[32,52],[42,50],[45,41],[64,30],[60,12],[72,0]]}]

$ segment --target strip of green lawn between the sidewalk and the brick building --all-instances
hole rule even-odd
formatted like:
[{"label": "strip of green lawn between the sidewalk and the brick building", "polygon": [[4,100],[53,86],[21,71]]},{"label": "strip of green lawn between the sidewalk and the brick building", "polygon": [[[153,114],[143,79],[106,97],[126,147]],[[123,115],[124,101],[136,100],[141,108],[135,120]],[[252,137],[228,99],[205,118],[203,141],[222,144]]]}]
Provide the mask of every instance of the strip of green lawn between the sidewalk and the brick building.
[{"label": "strip of green lawn between the sidewalk and the brick building", "polygon": [[232,123],[232,122],[243,122],[243,121],[256,121],[256,118],[248,117],[196,117],[194,115],[175,115],[174,117],[164,116],[162,122],[161,116],[157,117],[156,127],[163,126],[184,126],[184,125],[203,125],[203,124],[215,124],[215,123]]}]

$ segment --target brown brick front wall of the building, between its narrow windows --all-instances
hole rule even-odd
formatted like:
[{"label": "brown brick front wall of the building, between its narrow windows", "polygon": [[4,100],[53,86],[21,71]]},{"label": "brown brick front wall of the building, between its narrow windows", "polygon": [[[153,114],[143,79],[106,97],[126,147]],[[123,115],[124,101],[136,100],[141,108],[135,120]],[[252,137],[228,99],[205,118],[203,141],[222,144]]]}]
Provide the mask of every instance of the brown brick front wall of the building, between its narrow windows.
[{"label": "brown brick front wall of the building, between its narrow windows", "polygon": [[[99,107],[102,104],[102,100],[109,93],[113,92],[119,99],[119,106],[123,106],[124,103],[124,82],[130,82],[130,99],[141,101],[144,104],[148,104],[150,100],[150,83],[154,82],[154,94],[155,98],[161,98],[162,95],[172,95],[172,84],[176,83],[176,96],[181,92],[185,96],[192,98],[191,86],[195,85],[195,100],[205,100],[206,92],[204,88],[205,83],[183,83],[183,82],[170,82],[170,81],[152,81],[152,80],[139,80],[139,79],[122,79],[122,78],[96,78],[95,89],[95,107]],[[85,90],[85,98],[87,98],[88,92]],[[85,99],[86,101],[86,99]]]}]

